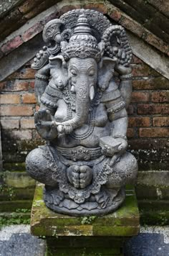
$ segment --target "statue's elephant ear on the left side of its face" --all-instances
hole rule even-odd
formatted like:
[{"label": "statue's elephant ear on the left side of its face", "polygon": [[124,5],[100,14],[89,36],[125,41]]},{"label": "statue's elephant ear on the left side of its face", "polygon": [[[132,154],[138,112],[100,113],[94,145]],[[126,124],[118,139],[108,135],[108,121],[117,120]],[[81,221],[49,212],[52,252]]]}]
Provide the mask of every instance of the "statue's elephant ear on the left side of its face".
[{"label": "statue's elephant ear on the left side of its face", "polygon": [[54,85],[63,90],[68,83],[67,63],[62,55],[49,57],[50,74]]}]

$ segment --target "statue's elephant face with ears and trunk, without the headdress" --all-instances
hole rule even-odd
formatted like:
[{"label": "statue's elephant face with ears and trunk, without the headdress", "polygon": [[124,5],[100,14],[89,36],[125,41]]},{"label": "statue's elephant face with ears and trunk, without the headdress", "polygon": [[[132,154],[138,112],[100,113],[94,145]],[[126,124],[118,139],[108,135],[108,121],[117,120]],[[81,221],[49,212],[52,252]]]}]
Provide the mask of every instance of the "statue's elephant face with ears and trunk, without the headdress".
[{"label": "statue's elephant face with ears and trunk, without the headdress", "polygon": [[[60,134],[70,133],[87,122],[90,103],[95,98],[97,86],[103,90],[107,88],[113,76],[116,60],[102,58],[102,61],[97,63],[95,58],[73,57],[67,61],[66,68],[62,56],[57,55],[49,59],[50,63],[54,62],[57,68],[54,72],[54,65],[52,66],[52,77],[57,87],[62,89],[68,86],[70,93],[75,94],[74,118],[62,123],[56,122]],[[104,76],[102,76],[103,73]],[[68,83],[66,84],[65,81]]]}]

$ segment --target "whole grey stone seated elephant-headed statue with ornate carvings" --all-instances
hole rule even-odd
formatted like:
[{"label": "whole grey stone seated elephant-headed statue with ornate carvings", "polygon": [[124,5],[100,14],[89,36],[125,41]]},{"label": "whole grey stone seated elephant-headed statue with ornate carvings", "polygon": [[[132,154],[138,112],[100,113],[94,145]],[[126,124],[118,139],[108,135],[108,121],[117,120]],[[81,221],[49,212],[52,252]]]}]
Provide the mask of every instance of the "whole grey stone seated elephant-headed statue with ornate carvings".
[{"label": "whole grey stone seated elephant-headed statue with ornate carvings", "polygon": [[76,9],[44,27],[37,53],[37,132],[47,141],[26,157],[45,184],[44,202],[74,216],[103,215],[125,200],[137,161],[127,152],[132,51],[125,30],[100,12]]}]

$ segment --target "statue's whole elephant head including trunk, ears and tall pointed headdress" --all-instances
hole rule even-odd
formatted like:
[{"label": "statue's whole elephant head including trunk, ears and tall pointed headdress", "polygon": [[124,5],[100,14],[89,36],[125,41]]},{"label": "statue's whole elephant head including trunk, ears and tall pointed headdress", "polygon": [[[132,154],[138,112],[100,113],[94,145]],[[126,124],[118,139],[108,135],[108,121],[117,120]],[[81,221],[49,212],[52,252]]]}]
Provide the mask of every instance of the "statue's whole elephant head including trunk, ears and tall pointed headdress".
[{"label": "statue's whole elephant head including trunk, ears and tall pointed headdress", "polygon": [[97,85],[103,90],[107,88],[117,61],[116,58],[101,58],[102,50],[92,36],[84,14],[79,16],[69,44],[63,44],[61,49],[61,54],[49,58],[51,75],[57,87],[61,85],[60,89],[68,81],[69,91],[75,94],[76,113],[73,119],[56,122],[60,134],[70,133],[87,122],[90,102],[95,97]]}]

